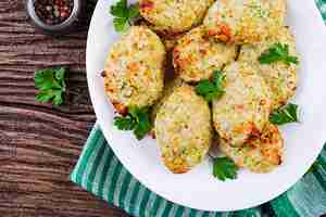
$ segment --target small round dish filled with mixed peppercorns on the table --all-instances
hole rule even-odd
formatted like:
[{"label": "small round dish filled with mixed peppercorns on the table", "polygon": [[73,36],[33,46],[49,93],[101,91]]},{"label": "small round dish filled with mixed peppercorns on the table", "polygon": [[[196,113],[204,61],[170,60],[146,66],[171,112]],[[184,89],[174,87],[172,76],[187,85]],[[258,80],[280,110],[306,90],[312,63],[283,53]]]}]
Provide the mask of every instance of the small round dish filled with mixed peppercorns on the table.
[{"label": "small round dish filled with mixed peppercorns on the table", "polygon": [[34,25],[46,34],[73,30],[82,11],[83,0],[27,0],[27,13]]}]

